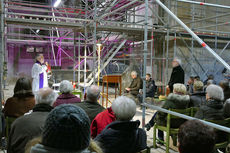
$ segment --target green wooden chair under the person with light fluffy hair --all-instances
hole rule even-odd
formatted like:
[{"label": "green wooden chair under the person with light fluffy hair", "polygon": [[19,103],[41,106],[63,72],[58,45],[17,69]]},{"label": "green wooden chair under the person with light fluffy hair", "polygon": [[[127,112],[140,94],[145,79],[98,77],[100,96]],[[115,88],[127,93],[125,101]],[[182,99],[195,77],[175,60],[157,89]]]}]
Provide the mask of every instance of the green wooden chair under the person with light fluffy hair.
[{"label": "green wooden chair under the person with light fluffy hair", "polygon": [[[174,111],[180,114],[184,114],[184,115],[188,115],[190,116],[191,114],[191,108],[187,108],[187,109],[169,109],[170,111]],[[166,132],[166,142],[161,141],[158,139],[158,141],[160,141],[161,143],[166,144],[166,153],[169,153],[169,140],[170,140],[170,136],[172,136],[173,139],[173,145],[176,146],[177,145],[177,133],[179,131],[179,128],[171,128],[170,127],[170,123],[171,123],[171,119],[179,119],[180,117],[176,117],[173,116],[171,114],[167,115],[167,125],[166,126],[161,126],[158,125],[157,123],[155,123],[154,128],[153,128],[153,147],[156,148],[156,130],[161,130],[161,131],[165,131]]]}]

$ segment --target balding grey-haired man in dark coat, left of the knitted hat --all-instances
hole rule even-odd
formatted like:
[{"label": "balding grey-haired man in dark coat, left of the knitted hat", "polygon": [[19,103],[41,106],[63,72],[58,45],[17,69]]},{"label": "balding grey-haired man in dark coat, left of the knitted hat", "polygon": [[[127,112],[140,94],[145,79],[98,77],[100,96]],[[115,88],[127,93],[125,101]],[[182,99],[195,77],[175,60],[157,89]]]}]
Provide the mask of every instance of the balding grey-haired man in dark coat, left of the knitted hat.
[{"label": "balding grey-haired man in dark coat, left of the knitted hat", "polygon": [[41,135],[43,125],[57,94],[50,88],[40,89],[35,96],[36,105],[31,114],[16,119],[10,130],[8,153],[24,153],[28,141]]}]

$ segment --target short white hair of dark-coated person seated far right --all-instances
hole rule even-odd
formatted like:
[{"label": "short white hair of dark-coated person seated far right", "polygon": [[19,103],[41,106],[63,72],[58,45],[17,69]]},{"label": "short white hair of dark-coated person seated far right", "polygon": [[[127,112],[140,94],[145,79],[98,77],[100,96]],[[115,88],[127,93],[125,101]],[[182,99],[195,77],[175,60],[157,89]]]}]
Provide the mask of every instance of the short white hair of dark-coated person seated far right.
[{"label": "short white hair of dark-coated person seated far right", "polygon": [[210,99],[222,101],[224,99],[223,89],[217,85],[211,84],[206,88],[206,93]]}]

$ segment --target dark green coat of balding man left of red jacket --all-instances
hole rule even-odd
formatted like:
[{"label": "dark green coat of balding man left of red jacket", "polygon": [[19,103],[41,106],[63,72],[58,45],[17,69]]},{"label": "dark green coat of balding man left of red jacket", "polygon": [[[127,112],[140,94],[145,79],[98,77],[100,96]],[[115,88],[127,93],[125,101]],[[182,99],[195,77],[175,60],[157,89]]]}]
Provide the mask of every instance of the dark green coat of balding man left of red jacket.
[{"label": "dark green coat of balding man left of red jacket", "polygon": [[86,114],[89,116],[90,123],[92,123],[97,114],[104,111],[105,109],[98,102],[91,102],[89,100],[83,101],[81,103],[75,103],[74,105],[81,107],[86,112]]}]

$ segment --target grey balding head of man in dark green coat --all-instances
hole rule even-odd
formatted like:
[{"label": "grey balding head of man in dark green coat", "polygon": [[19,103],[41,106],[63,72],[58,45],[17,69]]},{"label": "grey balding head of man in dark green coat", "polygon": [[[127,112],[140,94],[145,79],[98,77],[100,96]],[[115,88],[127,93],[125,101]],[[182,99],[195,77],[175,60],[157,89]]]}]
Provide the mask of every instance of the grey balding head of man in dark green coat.
[{"label": "grey balding head of man in dark green coat", "polygon": [[97,101],[100,97],[100,92],[98,86],[92,85],[86,90],[86,98],[91,101]]}]

